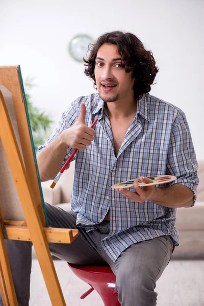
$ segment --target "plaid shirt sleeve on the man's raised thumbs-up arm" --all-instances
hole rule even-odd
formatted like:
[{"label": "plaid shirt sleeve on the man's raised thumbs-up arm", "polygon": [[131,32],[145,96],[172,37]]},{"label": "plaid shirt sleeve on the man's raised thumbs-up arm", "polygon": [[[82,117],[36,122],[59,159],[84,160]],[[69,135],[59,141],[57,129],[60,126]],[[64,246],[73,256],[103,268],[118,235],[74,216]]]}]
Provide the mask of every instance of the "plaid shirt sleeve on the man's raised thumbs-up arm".
[{"label": "plaid shirt sleeve on the man's raised thumbs-up arm", "polygon": [[[41,150],[43,150],[49,143],[54,141],[64,130],[68,129],[68,127],[73,125],[73,123],[77,120],[76,105],[78,105],[79,99],[77,99],[73,103],[71,103],[70,107],[65,112],[63,112],[61,120],[59,121],[55,131],[49,136],[49,138],[45,141],[45,143],[43,145],[40,145],[38,147],[37,155],[39,154],[39,152]],[[63,165],[65,164],[65,162],[67,161],[67,159],[72,154],[73,150],[74,150],[74,148],[71,148],[71,147],[67,148],[66,155],[65,155],[64,160],[62,162],[61,169],[62,169]],[[75,157],[73,157],[72,161],[74,159],[75,159]],[[67,169],[68,168],[69,168],[69,165],[67,166]]]}]

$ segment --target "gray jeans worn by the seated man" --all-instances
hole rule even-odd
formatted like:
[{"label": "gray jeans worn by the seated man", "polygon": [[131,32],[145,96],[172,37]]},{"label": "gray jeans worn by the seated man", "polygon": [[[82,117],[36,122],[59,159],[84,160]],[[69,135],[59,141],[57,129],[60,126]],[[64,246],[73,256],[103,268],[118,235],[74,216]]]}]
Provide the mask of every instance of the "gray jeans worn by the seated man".
[{"label": "gray jeans worn by the seated man", "polygon": [[[77,228],[74,212],[65,212],[48,204],[46,210],[50,226]],[[155,306],[156,282],[168,265],[172,254],[173,245],[169,236],[133,244],[123,251],[114,263],[101,247],[101,240],[109,233],[109,221],[103,221],[96,227],[97,230],[89,233],[86,233],[84,228],[78,228],[80,236],[71,244],[49,243],[49,249],[56,257],[71,264],[110,265],[116,275],[116,291],[122,306]],[[32,243],[14,240],[5,240],[5,242],[18,305],[28,306]],[[3,305],[1,298],[0,305]]]}]

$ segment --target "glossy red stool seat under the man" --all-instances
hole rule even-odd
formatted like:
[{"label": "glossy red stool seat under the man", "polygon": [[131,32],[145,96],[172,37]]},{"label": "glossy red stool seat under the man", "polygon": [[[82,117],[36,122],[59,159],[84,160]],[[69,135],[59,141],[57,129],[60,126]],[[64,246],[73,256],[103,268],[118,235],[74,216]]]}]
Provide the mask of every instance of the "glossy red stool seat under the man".
[{"label": "glossy red stool seat under the man", "polygon": [[105,306],[120,306],[118,294],[115,291],[116,277],[110,267],[76,266],[69,263],[68,266],[75,275],[91,286],[82,294],[81,299],[95,289]]}]

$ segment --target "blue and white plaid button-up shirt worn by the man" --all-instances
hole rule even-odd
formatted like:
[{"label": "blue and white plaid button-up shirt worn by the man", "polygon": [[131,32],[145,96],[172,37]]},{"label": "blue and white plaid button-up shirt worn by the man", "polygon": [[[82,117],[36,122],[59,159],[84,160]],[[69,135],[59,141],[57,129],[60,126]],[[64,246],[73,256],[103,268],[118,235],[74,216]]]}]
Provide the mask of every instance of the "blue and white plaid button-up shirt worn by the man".
[{"label": "blue and white plaid button-up shirt worn by the man", "polygon": [[[185,114],[157,97],[144,94],[115,157],[104,101],[97,93],[82,96],[63,113],[55,132],[39,151],[77,120],[81,103],[87,109],[85,124],[90,126],[95,118],[98,122],[91,145],[75,155],[71,208],[77,213],[77,225],[87,232],[95,230],[94,224],[103,221],[110,209],[110,233],[102,245],[114,262],[123,250],[140,241],[170,235],[173,244],[179,245],[179,232],[174,226],[176,208],[150,200],[134,202],[111,186],[141,175],[174,175],[176,181],[157,187],[183,184],[193,191],[195,202],[199,182],[197,162]],[[72,151],[68,147],[62,166]]]}]

